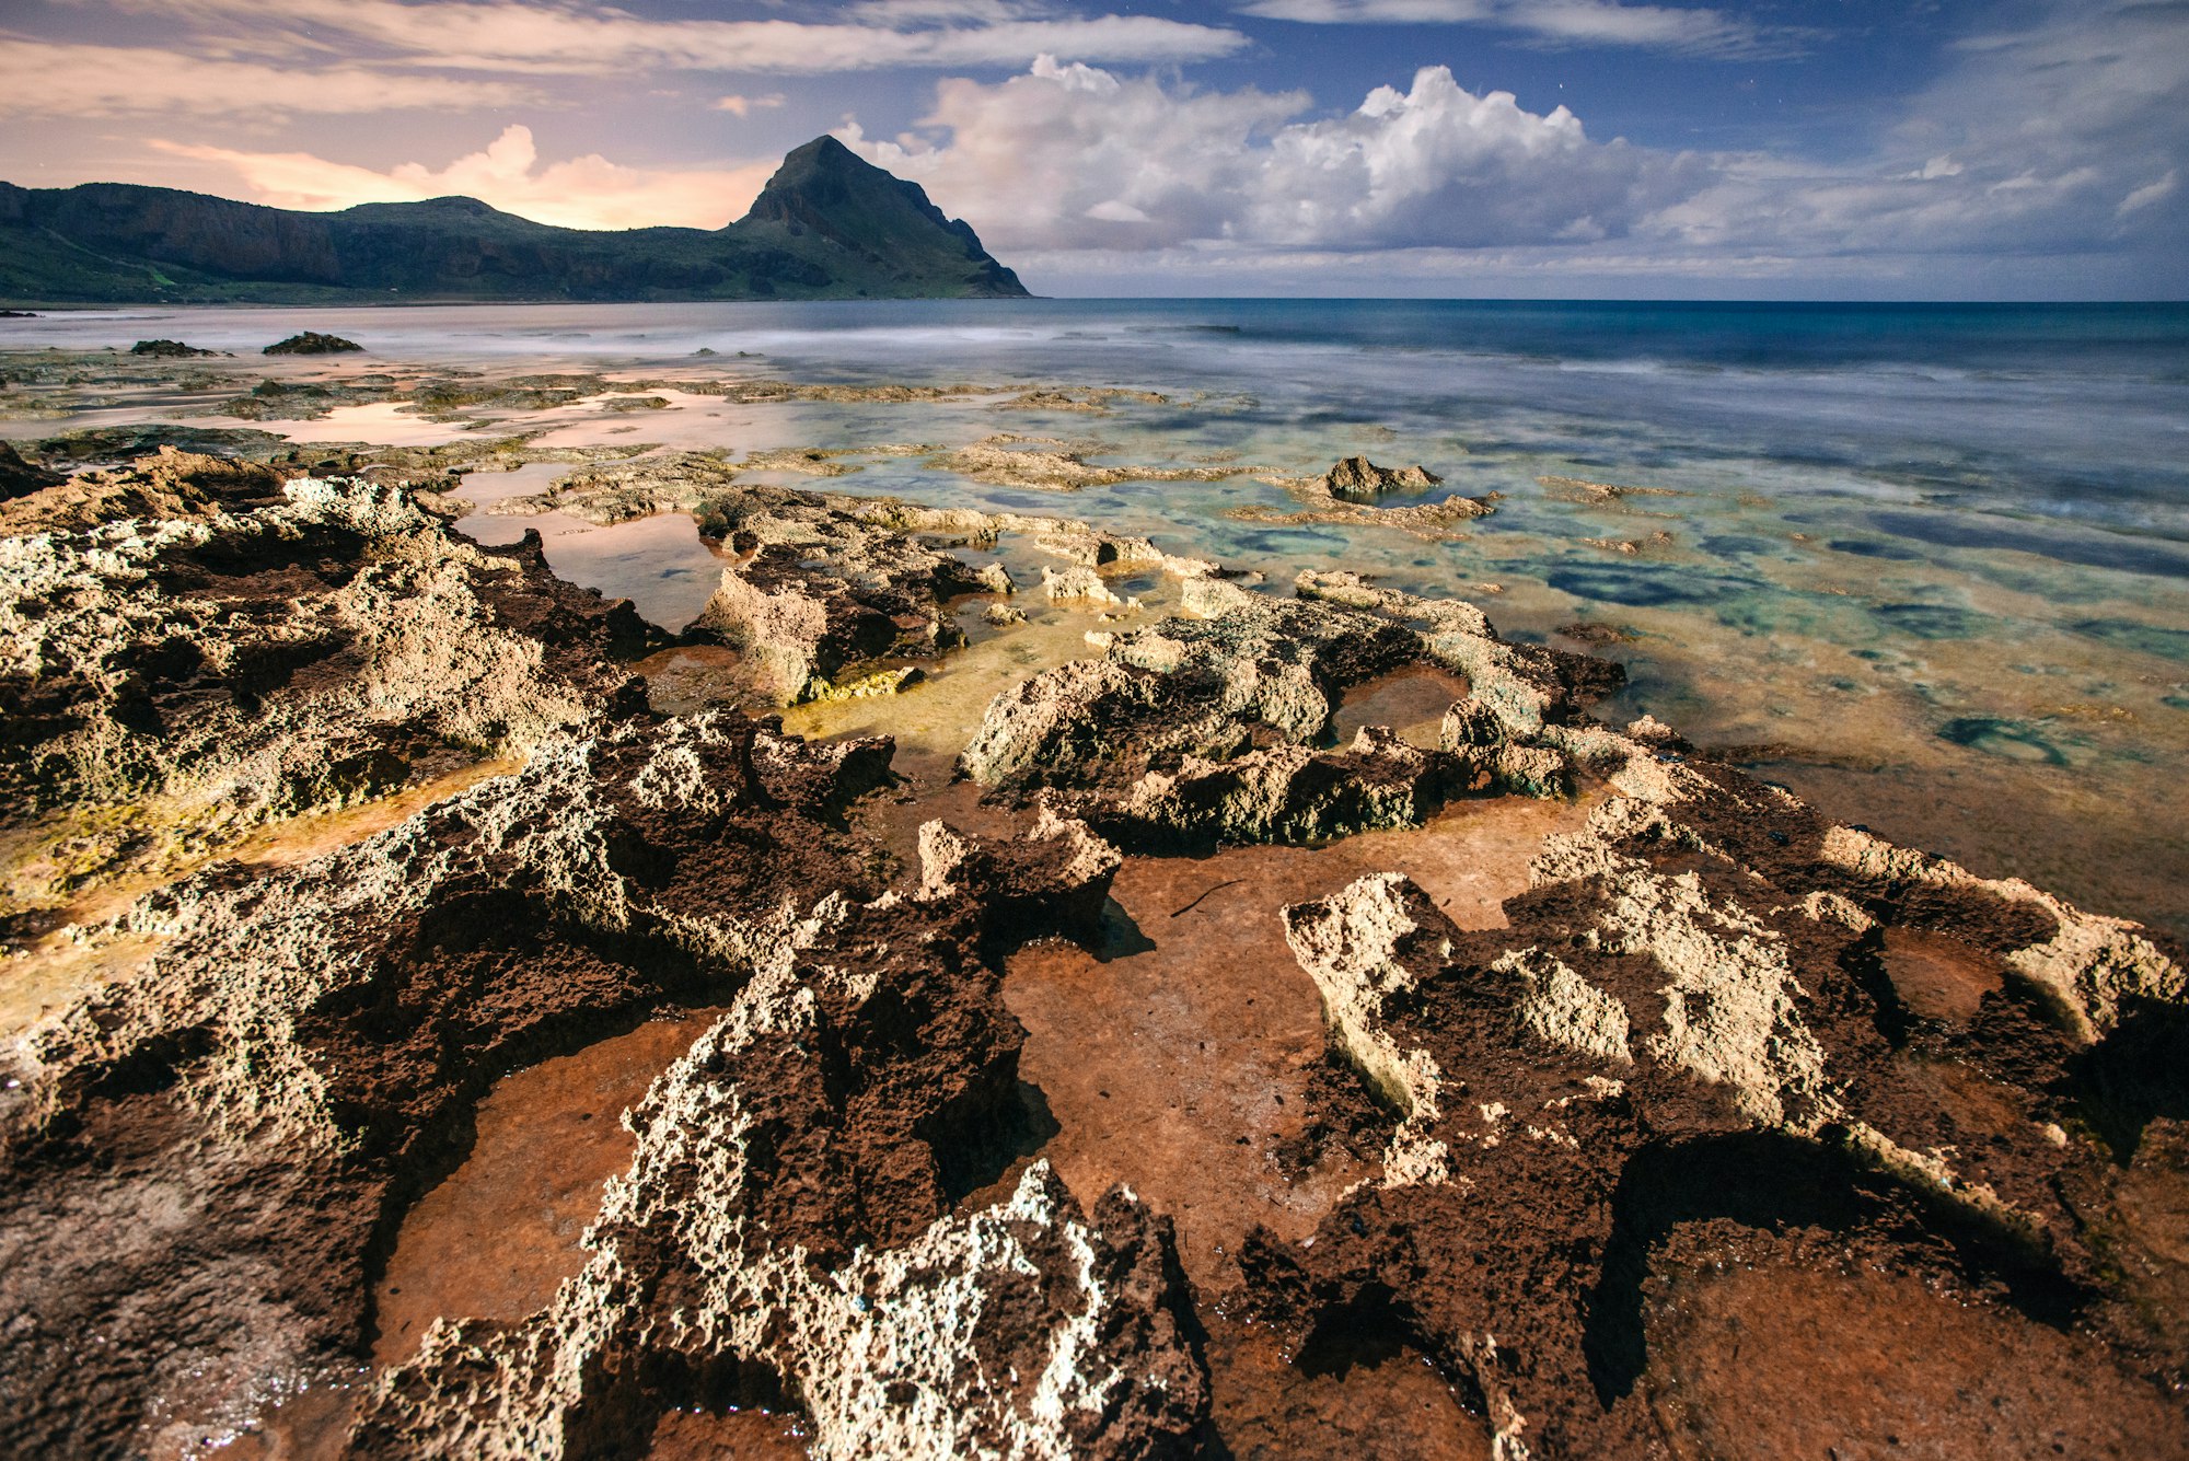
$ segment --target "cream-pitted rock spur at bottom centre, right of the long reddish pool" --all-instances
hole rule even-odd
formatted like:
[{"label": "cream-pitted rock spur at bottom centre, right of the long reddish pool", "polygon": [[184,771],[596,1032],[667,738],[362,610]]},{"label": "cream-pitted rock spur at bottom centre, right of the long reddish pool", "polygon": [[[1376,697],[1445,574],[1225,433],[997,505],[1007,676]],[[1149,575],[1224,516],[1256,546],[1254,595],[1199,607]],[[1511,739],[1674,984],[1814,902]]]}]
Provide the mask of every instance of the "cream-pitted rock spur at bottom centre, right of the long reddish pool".
[{"label": "cream-pitted rock spur at bottom centre, right of the long reddish pool", "polygon": [[1016,1100],[983,945],[1084,936],[1116,853],[1051,820],[1007,849],[930,822],[922,855],[911,899],[814,910],[633,1113],[589,1269],[523,1325],[429,1334],[361,1454],[593,1454],[672,1360],[781,1376],[821,1457],[1184,1452],[1206,1384],[1165,1220],[1081,1214],[1046,1166],[946,1216]]}]

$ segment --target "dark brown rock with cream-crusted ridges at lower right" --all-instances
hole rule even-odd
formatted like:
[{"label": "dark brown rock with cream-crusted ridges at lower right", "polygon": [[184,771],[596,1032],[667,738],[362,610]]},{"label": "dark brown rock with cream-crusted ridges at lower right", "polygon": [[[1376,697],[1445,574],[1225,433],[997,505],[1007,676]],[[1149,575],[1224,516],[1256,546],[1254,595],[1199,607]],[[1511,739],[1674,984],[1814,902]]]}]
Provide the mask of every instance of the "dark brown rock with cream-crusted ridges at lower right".
[{"label": "dark brown rock with cream-crusted ridges at lower right", "polygon": [[[1302,1325],[1388,1293],[1504,1457],[1664,1444],[1622,1325],[1677,1223],[1830,1223],[1841,1251],[1931,1282],[2058,1284],[2084,1295],[2108,1393],[2134,1398],[2154,1360],[2180,1374],[2180,1341],[2161,1360],[2139,1317],[2152,1279],[2112,1264],[2090,1199],[2069,1196],[2115,1159],[2069,1135],[2077,1072],[2143,1048],[2180,965],[2132,925],[1692,763],[1655,722],[1543,739],[1622,794],[1550,840],[1508,930],[1460,932],[1399,875],[1285,910],[1331,1050],[1390,1115],[1383,1172],[1313,1242],[1256,1240],[1265,1312]],[[1885,930],[2023,984],[1966,1021],[1924,1017],[1893,991]],[[1968,1094],[1939,1100],[1948,1067]],[[2132,1413],[2139,1446],[2180,1433],[2156,1393]]]}]

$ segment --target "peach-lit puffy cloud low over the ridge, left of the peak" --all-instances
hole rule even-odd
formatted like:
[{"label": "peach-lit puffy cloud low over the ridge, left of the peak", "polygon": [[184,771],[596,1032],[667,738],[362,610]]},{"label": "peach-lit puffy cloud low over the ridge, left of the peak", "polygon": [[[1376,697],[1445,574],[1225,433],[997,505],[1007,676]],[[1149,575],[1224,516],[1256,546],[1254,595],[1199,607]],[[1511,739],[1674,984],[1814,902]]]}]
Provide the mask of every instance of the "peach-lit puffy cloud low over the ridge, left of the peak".
[{"label": "peach-lit puffy cloud low over the ridge, left of the peak", "polygon": [[313,153],[245,153],[177,142],[153,147],[232,168],[252,201],[276,208],[328,210],[464,195],[563,227],[722,227],[744,214],[777,166],[630,168],[598,153],[541,166],[530,127],[508,127],[486,149],[444,168],[405,162],[385,173]]}]

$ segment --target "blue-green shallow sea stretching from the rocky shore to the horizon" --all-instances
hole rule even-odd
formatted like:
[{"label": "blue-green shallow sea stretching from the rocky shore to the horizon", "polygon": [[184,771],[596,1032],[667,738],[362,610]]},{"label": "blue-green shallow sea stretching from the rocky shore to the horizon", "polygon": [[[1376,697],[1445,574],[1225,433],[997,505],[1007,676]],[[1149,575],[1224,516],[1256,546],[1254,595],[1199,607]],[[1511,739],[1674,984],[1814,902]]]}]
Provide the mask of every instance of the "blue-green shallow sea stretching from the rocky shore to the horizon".
[{"label": "blue-green shallow sea stretching from the rocky shore to the horizon", "polygon": [[[1300,569],[1353,569],[1467,597],[1510,639],[1620,661],[1629,685],[1607,720],[1657,715],[1830,816],[2189,936],[2182,304],[129,308],[4,319],[0,350],[166,335],[247,367],[300,328],[449,370],[983,391],[911,405],[668,391],[670,409],[617,420],[617,440],[672,448],[948,448],[1014,433],[1097,464],[1239,466],[1217,481],[1035,492],[968,481],[933,453],[878,453],[825,486],[1077,516],[1259,571],[1274,591]],[[1029,387],[1165,400],[998,409]],[[107,420],[7,420],[0,435]],[[541,444],[602,440],[602,420],[556,416]],[[390,407],[269,429],[326,442],[466,431]],[[1410,501],[1495,494],[1495,512],[1453,540],[1270,521],[1298,510],[1274,479],[1351,455],[1443,479]],[[567,525],[549,542],[571,577],[672,628],[711,588],[707,551],[696,529],[661,523]]]}]

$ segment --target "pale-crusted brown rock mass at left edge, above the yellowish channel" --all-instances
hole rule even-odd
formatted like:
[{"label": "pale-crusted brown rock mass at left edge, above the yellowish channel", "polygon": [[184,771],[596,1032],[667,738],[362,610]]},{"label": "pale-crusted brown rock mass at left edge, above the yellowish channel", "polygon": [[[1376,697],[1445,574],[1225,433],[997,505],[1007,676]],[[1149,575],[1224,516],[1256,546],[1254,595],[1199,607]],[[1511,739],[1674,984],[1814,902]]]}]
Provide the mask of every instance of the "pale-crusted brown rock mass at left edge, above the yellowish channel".
[{"label": "pale-crusted brown rock mass at left edge, above the yellowish channel", "polygon": [[396,488],[171,453],[7,514],[0,825],[50,846],[50,892],[637,698],[604,663],[648,634],[628,606]]}]

